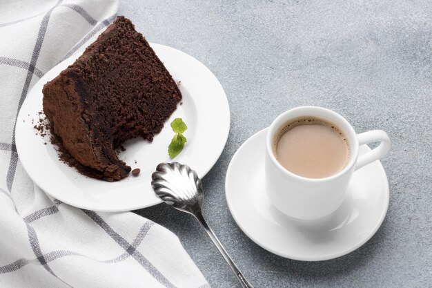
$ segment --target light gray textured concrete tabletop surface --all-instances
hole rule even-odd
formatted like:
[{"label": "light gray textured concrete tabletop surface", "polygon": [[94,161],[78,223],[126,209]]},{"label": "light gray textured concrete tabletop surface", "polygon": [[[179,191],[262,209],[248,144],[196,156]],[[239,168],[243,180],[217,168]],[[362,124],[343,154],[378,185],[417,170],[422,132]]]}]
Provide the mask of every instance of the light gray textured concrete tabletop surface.
[{"label": "light gray textured concrete tabletop surface", "polygon": [[[202,61],[231,110],[224,152],[204,177],[206,218],[255,288],[431,287],[431,1],[121,1],[149,41]],[[239,146],[300,105],[331,108],[357,132],[391,137],[390,205],[375,236],[323,262],[275,256],[235,224],[225,173]],[[239,287],[204,230],[157,205],[137,211],[174,231],[212,287]],[[199,239],[199,240],[198,240]]]}]

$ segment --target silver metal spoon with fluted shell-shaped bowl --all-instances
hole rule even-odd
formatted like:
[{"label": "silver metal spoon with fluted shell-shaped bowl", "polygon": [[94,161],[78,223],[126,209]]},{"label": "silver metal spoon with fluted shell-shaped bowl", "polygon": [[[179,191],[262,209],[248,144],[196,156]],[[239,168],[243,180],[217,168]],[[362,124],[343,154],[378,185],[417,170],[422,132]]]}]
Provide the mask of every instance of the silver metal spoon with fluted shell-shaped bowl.
[{"label": "silver metal spoon with fluted shell-shaped bowl", "polygon": [[202,215],[203,189],[197,173],[190,169],[189,166],[177,162],[161,163],[157,165],[156,171],[152,174],[152,179],[152,186],[156,195],[175,209],[194,215],[206,229],[208,236],[213,240],[228,265],[233,269],[242,283],[242,287],[253,288],[231,260],[224,247],[222,247],[215,233],[208,227],[206,220],[204,220]]}]

